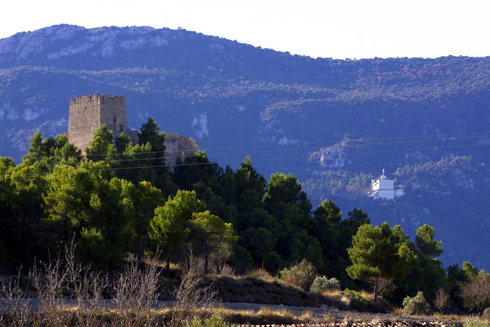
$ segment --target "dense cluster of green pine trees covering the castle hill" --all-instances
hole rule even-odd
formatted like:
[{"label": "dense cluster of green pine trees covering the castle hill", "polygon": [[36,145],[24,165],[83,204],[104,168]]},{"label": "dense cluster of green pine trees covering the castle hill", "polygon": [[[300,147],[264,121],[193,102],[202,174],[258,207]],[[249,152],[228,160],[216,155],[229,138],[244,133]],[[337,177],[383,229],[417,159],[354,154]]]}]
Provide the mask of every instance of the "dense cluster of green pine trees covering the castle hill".
[{"label": "dense cluster of green pine trees covering the castle hill", "polygon": [[411,242],[400,226],[371,226],[361,209],[345,219],[333,201],[313,209],[295,176],[267,181],[248,156],[233,170],[198,151],[171,169],[164,139],[153,119],[137,145],[125,134],[113,141],[102,125],[82,155],[66,135],[43,139],[38,131],[21,164],[0,158],[2,269],[29,267],[73,238],[78,258],[101,268],[157,249],[169,266],[190,243],[205,272],[225,263],[239,273],[279,272],[308,262],[343,287],[370,283],[375,299],[390,296],[394,282],[391,296],[400,303],[418,291],[432,301],[441,289],[470,310],[488,303],[485,294],[478,303],[468,295],[489,284],[488,274],[467,262],[446,272],[433,227],[418,228]]}]

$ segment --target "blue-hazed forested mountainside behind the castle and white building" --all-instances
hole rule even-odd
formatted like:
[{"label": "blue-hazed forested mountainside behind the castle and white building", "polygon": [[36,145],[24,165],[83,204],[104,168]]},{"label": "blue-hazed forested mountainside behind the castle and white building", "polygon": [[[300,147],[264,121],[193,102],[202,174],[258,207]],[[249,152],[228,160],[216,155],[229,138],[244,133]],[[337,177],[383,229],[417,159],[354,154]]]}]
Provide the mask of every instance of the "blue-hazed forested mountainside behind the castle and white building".
[{"label": "blue-hazed forested mountainside behind the castle and white building", "polygon": [[[72,97],[120,94],[130,127],[152,116],[223,166],[249,154],[345,218],[361,207],[412,238],[427,223],[446,265],[488,270],[489,72],[488,57],[314,59],[183,29],[57,25],[0,40],[0,153],[19,163],[37,129],[66,132]],[[366,197],[382,169],[404,197]]]}]

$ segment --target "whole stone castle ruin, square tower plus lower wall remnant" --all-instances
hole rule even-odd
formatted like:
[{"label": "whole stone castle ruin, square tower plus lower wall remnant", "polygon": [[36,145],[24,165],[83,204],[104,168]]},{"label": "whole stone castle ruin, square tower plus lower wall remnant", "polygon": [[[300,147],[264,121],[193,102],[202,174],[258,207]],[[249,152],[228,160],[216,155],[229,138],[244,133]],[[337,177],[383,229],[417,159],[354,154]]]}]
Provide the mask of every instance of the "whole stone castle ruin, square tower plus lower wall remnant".
[{"label": "whole stone castle ruin, square tower plus lower wall remnant", "polygon": [[[127,128],[126,99],[124,96],[95,94],[70,100],[68,118],[68,141],[85,152],[94,132],[102,124],[112,130],[114,138],[121,133],[131,137],[133,145],[138,143],[138,131]],[[165,162],[174,165],[177,157],[182,160],[199,150],[199,144],[190,137],[177,133],[165,133]]]}]

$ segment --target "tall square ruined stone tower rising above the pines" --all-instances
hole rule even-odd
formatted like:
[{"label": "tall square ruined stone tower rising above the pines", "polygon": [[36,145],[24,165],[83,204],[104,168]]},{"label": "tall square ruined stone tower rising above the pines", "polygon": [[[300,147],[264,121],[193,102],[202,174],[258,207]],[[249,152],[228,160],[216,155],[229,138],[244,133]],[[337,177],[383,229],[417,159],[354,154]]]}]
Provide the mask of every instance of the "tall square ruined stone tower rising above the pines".
[{"label": "tall square ruined stone tower rising above the pines", "polygon": [[127,133],[126,100],[124,96],[95,94],[70,100],[68,118],[68,140],[78,149],[85,151],[94,132],[105,124],[114,137]]}]

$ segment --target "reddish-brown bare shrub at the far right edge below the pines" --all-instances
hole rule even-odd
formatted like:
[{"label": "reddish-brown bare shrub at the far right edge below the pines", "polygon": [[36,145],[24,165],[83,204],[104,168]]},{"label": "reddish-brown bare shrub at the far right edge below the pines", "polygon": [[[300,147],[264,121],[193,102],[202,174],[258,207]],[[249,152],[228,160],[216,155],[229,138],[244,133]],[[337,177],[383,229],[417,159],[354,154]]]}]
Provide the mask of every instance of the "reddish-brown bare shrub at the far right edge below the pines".
[{"label": "reddish-brown bare shrub at the far right edge below the pines", "polygon": [[490,277],[480,273],[468,282],[459,283],[459,297],[469,310],[476,310],[480,315],[490,305]]}]

